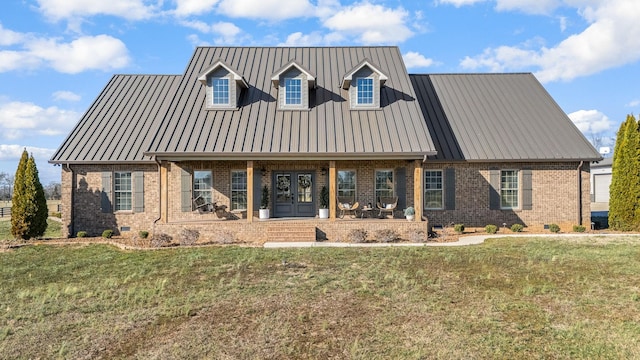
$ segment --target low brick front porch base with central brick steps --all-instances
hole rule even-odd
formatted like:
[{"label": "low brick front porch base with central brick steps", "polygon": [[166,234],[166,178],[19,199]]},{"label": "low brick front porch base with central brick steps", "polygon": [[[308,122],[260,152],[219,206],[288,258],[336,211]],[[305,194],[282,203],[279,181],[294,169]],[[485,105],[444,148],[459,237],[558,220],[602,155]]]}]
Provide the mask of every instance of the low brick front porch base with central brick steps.
[{"label": "low brick front porch base with central brick steps", "polygon": [[[350,242],[349,233],[363,230],[367,233],[367,241],[374,241],[381,230],[394,231],[400,240],[411,240],[416,234],[428,230],[428,222],[407,221],[406,219],[351,218],[330,219],[319,218],[271,218],[248,221],[247,219],[224,221],[175,221],[157,223],[154,234],[164,233],[177,240],[183,229],[197,230],[199,242],[220,243],[224,237],[235,243],[260,245],[267,241],[332,241]],[[426,238],[425,238],[426,239]]]}]

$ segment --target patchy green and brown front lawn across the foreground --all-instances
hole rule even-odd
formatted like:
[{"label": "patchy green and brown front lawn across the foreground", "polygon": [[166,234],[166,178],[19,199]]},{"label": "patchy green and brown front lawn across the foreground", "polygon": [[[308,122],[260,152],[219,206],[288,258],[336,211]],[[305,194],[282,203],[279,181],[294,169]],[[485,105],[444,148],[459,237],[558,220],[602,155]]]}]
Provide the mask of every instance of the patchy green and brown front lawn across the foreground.
[{"label": "patchy green and brown front lawn across the foreground", "polygon": [[0,253],[6,358],[640,358],[640,238]]}]

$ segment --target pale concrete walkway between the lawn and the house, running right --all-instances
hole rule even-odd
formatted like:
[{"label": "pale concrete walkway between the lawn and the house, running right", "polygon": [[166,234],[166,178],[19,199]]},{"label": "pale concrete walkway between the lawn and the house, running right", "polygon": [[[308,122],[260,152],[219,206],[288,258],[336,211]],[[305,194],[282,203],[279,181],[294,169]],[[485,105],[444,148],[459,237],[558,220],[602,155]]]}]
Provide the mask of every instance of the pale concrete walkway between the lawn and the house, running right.
[{"label": "pale concrete walkway between the lawn and the house, running right", "polygon": [[270,241],[264,243],[267,249],[278,248],[310,248],[310,247],[420,247],[420,246],[467,246],[479,245],[486,239],[500,239],[506,237],[622,237],[640,236],[640,234],[513,234],[513,235],[469,235],[463,236],[458,241],[452,242],[427,242],[427,243],[341,243],[329,241],[316,242],[277,242]]}]

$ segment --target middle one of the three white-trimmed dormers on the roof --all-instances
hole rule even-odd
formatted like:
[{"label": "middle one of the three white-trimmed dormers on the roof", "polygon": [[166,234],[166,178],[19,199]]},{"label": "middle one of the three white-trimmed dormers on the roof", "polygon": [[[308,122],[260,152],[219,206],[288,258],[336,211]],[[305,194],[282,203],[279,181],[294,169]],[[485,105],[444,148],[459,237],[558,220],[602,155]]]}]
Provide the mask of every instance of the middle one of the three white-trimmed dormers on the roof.
[{"label": "middle one of the three white-trimmed dormers on the roof", "polygon": [[278,90],[278,109],[309,109],[309,93],[316,86],[316,77],[304,66],[292,60],[271,76],[271,82]]}]

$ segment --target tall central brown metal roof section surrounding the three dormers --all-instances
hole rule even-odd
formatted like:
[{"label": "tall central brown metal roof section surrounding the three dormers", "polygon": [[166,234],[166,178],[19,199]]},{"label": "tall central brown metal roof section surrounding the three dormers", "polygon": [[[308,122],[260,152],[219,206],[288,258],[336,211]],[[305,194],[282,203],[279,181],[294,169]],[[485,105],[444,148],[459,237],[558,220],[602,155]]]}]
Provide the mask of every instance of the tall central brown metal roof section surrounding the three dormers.
[{"label": "tall central brown metal roof section surrounding the three dormers", "polygon": [[[388,76],[381,109],[351,110],[342,78],[364,59]],[[212,62],[246,79],[237,110],[207,110],[198,74]],[[271,76],[295,61],[315,74],[309,110],[279,110]],[[184,158],[422,158],[433,141],[397,47],[198,47],[147,154]]]}]

